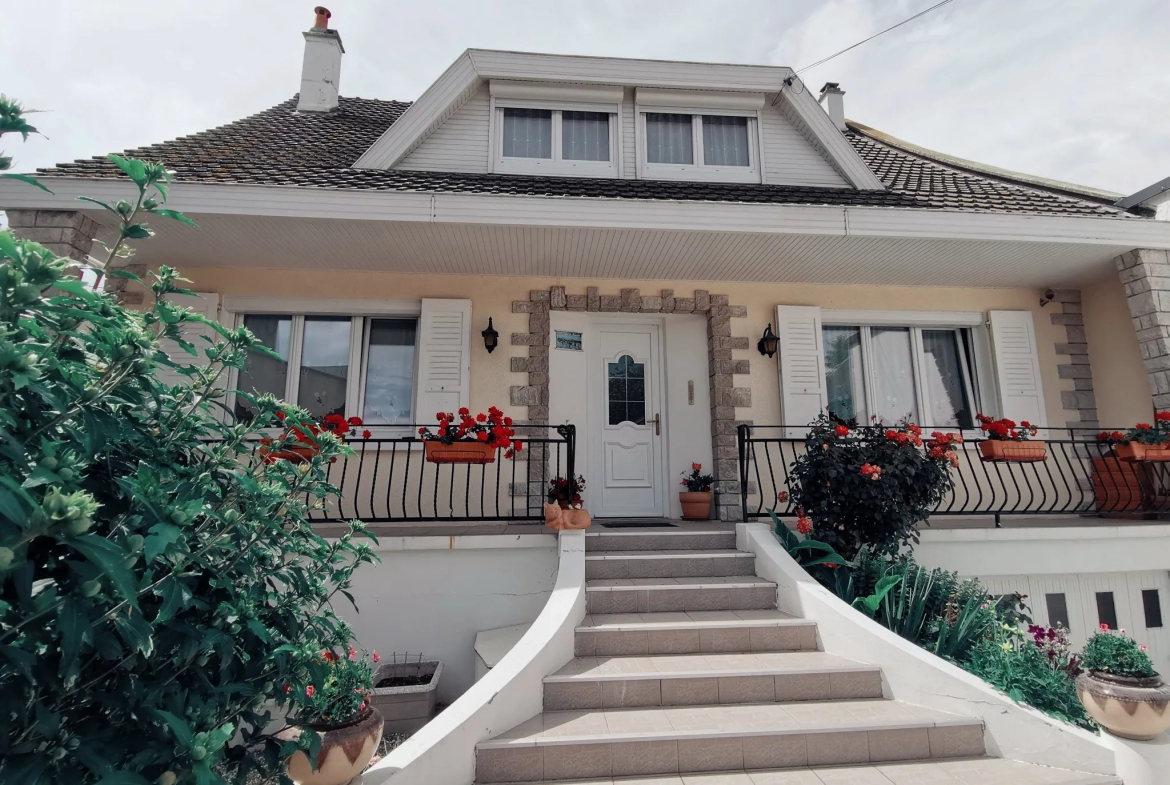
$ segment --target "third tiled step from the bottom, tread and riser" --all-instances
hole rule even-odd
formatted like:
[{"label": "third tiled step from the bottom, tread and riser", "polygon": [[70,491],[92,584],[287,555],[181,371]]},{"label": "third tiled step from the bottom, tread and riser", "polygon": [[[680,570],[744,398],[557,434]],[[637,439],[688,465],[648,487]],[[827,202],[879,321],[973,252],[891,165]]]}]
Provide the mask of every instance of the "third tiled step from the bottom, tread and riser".
[{"label": "third tiled step from the bottom, tread and riser", "polygon": [[581,657],[544,679],[544,710],[880,698],[881,670],[824,652]]}]

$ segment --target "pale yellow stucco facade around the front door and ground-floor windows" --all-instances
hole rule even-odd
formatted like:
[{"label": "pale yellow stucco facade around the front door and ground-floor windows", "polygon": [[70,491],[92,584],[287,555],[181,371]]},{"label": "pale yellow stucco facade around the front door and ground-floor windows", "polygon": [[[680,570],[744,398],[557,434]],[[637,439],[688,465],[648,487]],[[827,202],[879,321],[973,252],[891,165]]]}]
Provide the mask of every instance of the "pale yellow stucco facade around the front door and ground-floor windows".
[{"label": "pale yellow stucco facade around the front door and ground-floor windows", "polygon": [[[601,294],[619,294],[622,288],[636,287],[644,295],[658,295],[663,288],[673,288],[676,296],[689,297],[695,289],[707,289],[713,294],[727,294],[732,305],[745,305],[746,318],[731,321],[735,336],[750,338],[751,349],[736,352],[737,357],[751,359],[751,377],[736,377],[736,385],[751,387],[752,406],[742,416],[757,424],[776,424],[779,420],[779,383],[775,359],[762,357],[755,349],[756,340],[764,331],[764,325],[775,318],[777,304],[820,305],[821,308],[851,309],[894,309],[894,310],[934,310],[934,311],[987,311],[993,309],[1030,310],[1035,323],[1037,343],[1039,346],[1042,370],[1045,400],[1048,407],[1049,424],[1064,425],[1068,419],[1061,409],[1060,392],[1072,390],[1072,381],[1060,379],[1057,365],[1064,361],[1055,353],[1055,344],[1065,342],[1062,326],[1053,325],[1048,318],[1052,308],[1040,308],[1040,292],[1031,289],[961,289],[961,288],[916,288],[916,287],[867,287],[867,285],[814,285],[814,284],[759,284],[759,283],[724,283],[724,282],[680,282],[663,283],[619,281],[619,280],[584,280],[584,278],[522,278],[502,276],[441,276],[441,275],[406,275],[378,273],[318,273],[277,269],[240,269],[240,268],[192,268],[183,270],[192,280],[191,288],[197,291],[213,291],[221,296],[228,295],[268,295],[285,297],[304,297],[319,295],[322,297],[352,297],[373,299],[402,299],[420,297],[466,297],[473,301],[473,332],[477,333],[487,326],[488,317],[495,319],[500,331],[500,349],[488,354],[483,343],[472,342],[472,391],[470,406],[482,411],[490,405],[508,409],[508,391],[511,385],[526,383],[526,374],[509,371],[509,357],[526,356],[526,347],[512,346],[512,332],[528,331],[528,315],[512,314],[511,303],[515,299],[526,299],[530,289],[548,289],[550,285],[564,285],[569,294],[585,294],[585,287],[600,287]],[[1112,308],[1112,305],[1109,305]],[[1124,303],[1122,302],[1122,307]],[[1088,318],[1088,317],[1087,317]],[[1113,324],[1115,319],[1106,318]],[[1103,338],[1110,346],[1113,342],[1122,342],[1117,335]],[[1112,333],[1104,333],[1112,336]],[[1131,329],[1130,329],[1131,338]],[[1133,338],[1131,338],[1133,339]],[[1136,351],[1136,343],[1134,345]],[[1110,350],[1112,353],[1112,350]],[[1120,353],[1120,352],[1119,352]],[[1116,358],[1110,358],[1116,360]],[[1093,360],[1096,363],[1096,359]],[[1140,369],[1140,364],[1138,364]],[[1095,370],[1095,369],[1094,369]],[[1119,373],[1134,373],[1128,366]],[[1137,374],[1137,381],[1144,384],[1144,373]],[[1114,416],[1124,415],[1128,420],[1129,409],[1123,405]],[[517,414],[523,415],[523,412]],[[422,419],[427,413],[420,413]]]}]

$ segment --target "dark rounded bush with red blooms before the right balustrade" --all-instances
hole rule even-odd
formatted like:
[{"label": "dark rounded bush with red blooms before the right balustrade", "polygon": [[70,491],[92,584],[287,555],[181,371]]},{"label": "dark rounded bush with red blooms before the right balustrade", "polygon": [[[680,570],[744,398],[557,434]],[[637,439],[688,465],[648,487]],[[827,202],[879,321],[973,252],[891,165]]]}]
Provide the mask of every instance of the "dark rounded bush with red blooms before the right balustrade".
[{"label": "dark rounded bush with red blooms before the right balustrade", "polygon": [[924,443],[915,425],[855,426],[821,415],[792,464],[789,490],[812,536],[853,558],[862,545],[895,555],[951,488],[957,434]]}]

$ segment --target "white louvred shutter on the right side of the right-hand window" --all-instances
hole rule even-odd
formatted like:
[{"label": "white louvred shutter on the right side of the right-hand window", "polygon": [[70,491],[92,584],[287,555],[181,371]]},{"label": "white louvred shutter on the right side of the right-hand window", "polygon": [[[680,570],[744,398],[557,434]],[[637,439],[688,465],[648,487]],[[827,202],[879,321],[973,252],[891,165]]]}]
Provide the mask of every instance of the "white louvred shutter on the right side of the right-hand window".
[{"label": "white louvred shutter on the right side of the right-hand window", "polygon": [[987,311],[987,318],[999,384],[999,415],[1047,426],[1032,311]]}]

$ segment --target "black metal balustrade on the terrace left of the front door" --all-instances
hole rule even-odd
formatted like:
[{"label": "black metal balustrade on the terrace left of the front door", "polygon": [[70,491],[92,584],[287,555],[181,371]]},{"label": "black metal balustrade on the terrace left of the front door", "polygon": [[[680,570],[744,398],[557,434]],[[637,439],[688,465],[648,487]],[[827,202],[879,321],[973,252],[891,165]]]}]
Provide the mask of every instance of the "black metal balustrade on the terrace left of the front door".
[{"label": "black metal balustrade on the terrace left of the front door", "polygon": [[[404,426],[418,433],[419,426]],[[523,449],[491,463],[431,463],[418,436],[347,439],[329,466],[340,496],[309,501],[314,522],[543,521],[549,481],[574,471],[572,425],[517,426]],[[262,460],[254,453],[253,460]]]}]

